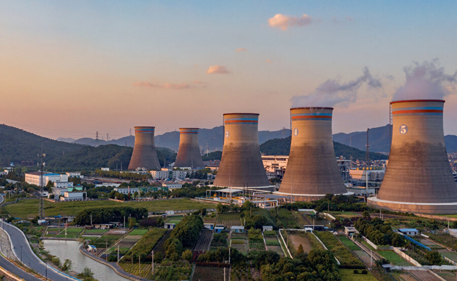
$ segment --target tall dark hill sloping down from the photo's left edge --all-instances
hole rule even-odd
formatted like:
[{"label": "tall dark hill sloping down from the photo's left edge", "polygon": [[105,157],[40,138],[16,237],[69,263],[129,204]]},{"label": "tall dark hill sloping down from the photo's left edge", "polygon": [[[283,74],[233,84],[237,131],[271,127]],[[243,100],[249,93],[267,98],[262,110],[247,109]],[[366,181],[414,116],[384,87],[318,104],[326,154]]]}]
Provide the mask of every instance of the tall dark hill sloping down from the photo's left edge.
[{"label": "tall dark hill sloping down from the photo's left edge", "polygon": [[38,161],[38,152],[46,152],[45,162],[63,154],[83,148],[81,145],[58,142],[54,139],[39,136],[22,129],[0,124],[0,164],[10,162]]}]

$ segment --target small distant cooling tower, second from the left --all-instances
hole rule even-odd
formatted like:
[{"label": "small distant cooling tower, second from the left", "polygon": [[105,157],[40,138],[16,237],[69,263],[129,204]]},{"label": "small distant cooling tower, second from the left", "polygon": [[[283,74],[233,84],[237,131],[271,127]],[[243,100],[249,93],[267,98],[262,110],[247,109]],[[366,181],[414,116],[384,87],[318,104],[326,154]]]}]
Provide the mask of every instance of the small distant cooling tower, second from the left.
[{"label": "small distant cooling tower, second from the left", "polygon": [[175,167],[205,167],[200,154],[199,128],[179,128],[179,149]]}]

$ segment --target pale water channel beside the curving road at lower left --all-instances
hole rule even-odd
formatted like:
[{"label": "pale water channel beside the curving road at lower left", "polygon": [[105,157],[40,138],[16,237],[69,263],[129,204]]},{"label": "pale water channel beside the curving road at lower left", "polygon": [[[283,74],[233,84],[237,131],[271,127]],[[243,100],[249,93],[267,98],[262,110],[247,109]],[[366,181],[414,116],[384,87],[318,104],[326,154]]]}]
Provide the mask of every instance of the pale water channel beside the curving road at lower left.
[{"label": "pale water channel beside the curving road at lower left", "polygon": [[82,272],[88,267],[93,272],[93,277],[98,280],[129,280],[114,272],[114,270],[102,263],[96,262],[79,252],[79,241],[43,240],[44,247],[51,255],[59,257],[63,263],[65,259],[72,261],[72,270]]}]

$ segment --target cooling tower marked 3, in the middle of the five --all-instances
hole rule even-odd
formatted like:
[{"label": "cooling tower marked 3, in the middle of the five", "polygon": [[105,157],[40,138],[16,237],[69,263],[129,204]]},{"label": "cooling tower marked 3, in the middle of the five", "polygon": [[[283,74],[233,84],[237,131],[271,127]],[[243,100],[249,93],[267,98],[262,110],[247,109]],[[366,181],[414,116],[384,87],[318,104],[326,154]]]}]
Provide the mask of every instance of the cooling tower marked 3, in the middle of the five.
[{"label": "cooling tower marked 3, in the middle of the five", "polygon": [[258,114],[224,114],[224,146],[213,185],[271,187],[258,145]]}]

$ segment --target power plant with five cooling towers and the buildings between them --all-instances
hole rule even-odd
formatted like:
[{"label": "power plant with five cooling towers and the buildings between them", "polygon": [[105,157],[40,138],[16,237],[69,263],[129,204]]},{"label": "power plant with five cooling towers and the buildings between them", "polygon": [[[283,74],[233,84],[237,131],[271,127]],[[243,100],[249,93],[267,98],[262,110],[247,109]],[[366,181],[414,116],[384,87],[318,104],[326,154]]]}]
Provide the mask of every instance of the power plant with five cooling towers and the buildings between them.
[{"label": "power plant with five cooling towers and the buildings between them", "polygon": [[[333,108],[290,109],[291,145],[288,156],[261,155],[259,115],[223,115],[224,142],[215,180],[203,200],[262,207],[312,201],[325,194],[365,196],[369,205],[426,214],[457,213],[457,183],[449,165],[443,133],[444,100],[391,102],[393,136],[389,160],[376,167],[351,169],[351,160],[335,157]],[[160,168],[154,127],[135,127],[135,147],[128,169],[147,169],[153,179],[184,180],[189,171],[204,168],[198,145],[199,128],[180,128],[175,168]],[[411,163],[414,163],[412,165]],[[269,179],[282,178],[279,190]],[[353,182],[366,183],[348,184]],[[381,183],[378,188],[369,183]],[[371,197],[370,195],[373,195]],[[377,195],[377,196],[374,196]]]}]

